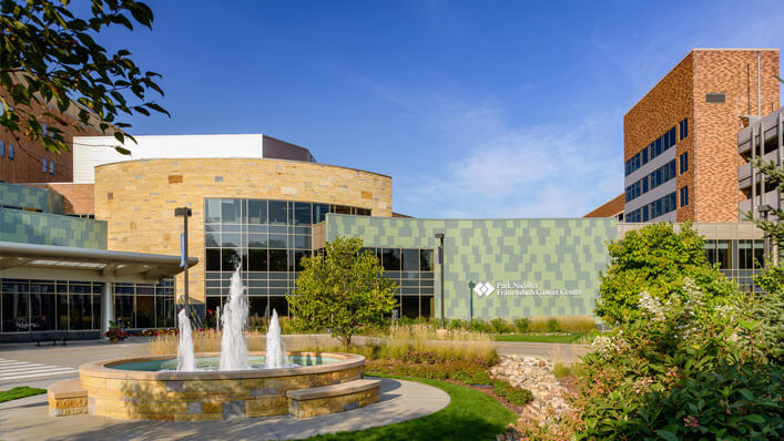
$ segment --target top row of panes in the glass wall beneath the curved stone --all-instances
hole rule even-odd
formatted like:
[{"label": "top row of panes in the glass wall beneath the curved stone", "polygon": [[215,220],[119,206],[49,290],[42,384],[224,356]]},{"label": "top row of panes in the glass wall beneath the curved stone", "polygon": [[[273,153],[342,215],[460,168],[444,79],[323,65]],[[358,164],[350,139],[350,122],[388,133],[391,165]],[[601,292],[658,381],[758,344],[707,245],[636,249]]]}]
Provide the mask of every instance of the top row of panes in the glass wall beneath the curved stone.
[{"label": "top row of panes in the glass wall beneath the curved stone", "polygon": [[335,204],[267,199],[204,199],[206,224],[312,225],[327,213],[369,216],[370,209]]}]

